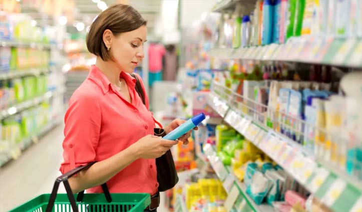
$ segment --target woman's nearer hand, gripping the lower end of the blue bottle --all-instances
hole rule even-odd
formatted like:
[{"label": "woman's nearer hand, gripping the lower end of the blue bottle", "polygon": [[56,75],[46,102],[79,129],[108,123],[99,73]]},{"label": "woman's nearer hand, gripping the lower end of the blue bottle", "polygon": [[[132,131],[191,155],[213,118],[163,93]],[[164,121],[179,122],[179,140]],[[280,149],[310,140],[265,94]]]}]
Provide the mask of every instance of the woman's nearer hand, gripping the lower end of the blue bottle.
[{"label": "woman's nearer hand, gripping the lower end of the blue bottle", "polygon": [[158,136],[147,135],[132,144],[132,147],[135,149],[138,158],[153,159],[161,157],[177,143],[178,141],[170,141]]}]

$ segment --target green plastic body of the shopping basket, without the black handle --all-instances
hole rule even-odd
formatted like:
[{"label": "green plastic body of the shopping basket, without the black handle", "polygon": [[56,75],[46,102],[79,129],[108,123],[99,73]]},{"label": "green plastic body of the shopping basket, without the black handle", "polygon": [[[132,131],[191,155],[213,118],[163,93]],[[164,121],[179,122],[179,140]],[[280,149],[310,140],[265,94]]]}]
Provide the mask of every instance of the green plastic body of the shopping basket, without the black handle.
[{"label": "green plastic body of the shopping basket, without the black handle", "polygon": [[[40,195],[10,212],[46,212],[50,194]],[[108,203],[104,194],[85,194],[76,203],[79,212],[143,212],[150,205],[149,194],[111,194]],[[58,194],[52,212],[73,212],[67,194]]]}]

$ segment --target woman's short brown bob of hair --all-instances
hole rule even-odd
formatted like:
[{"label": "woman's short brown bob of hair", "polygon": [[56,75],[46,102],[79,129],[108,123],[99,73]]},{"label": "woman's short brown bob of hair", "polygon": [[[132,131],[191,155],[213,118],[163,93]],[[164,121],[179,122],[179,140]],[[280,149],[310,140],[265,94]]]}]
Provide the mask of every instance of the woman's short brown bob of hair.
[{"label": "woman's short brown bob of hair", "polygon": [[110,52],[103,42],[103,32],[106,29],[112,31],[117,36],[122,32],[133,31],[147,21],[132,6],[125,4],[115,4],[101,12],[91,24],[87,34],[86,42],[88,51],[100,56],[103,61],[111,59]]}]

